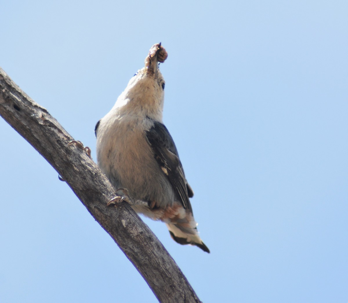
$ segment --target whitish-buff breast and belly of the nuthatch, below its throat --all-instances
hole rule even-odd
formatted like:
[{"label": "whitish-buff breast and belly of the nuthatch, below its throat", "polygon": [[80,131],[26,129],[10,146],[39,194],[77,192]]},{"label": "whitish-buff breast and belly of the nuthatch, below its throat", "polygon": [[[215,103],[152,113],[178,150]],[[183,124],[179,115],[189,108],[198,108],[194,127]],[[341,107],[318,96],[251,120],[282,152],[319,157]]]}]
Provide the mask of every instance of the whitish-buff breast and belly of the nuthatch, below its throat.
[{"label": "whitish-buff breast and belly of the nuthatch, below its throat", "polygon": [[115,188],[166,207],[173,204],[174,192],[147,141],[151,124],[147,118],[108,113],[97,130],[97,162]]}]

